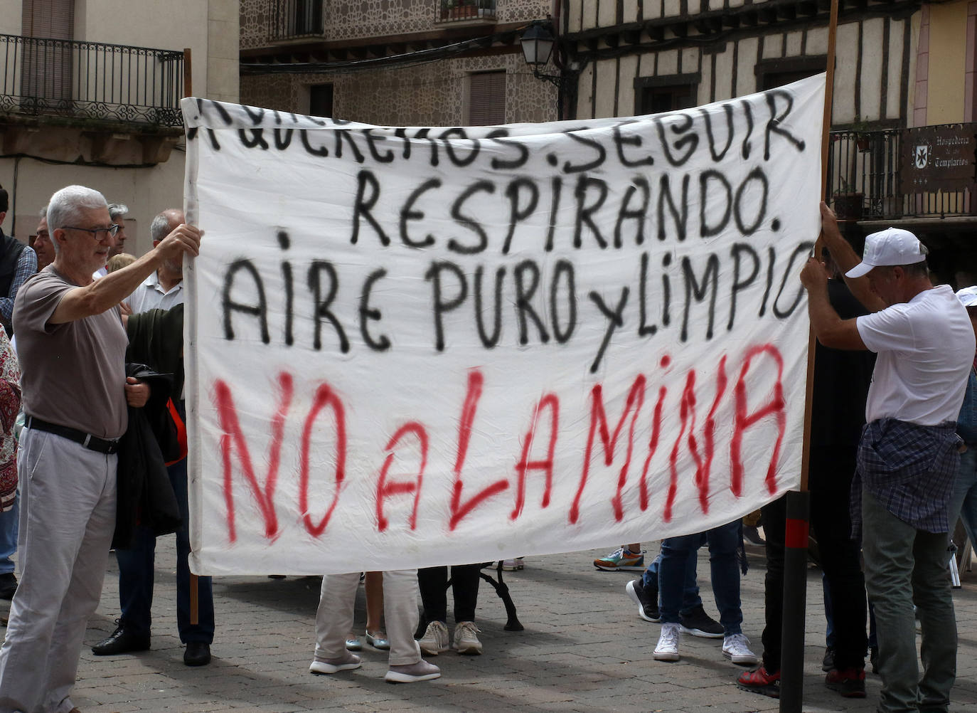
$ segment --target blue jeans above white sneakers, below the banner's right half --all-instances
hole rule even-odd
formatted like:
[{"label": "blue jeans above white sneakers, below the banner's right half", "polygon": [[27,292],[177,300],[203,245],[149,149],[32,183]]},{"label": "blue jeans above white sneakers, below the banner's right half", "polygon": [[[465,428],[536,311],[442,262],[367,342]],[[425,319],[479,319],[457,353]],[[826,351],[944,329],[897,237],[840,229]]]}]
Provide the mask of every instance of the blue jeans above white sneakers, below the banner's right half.
[{"label": "blue jeans above white sneakers, below the banner's right half", "polygon": [[719,623],[726,636],[741,634],[743,610],[740,607],[740,565],[737,550],[743,541],[743,521],[733,520],[705,533],[669,537],[661,542],[658,592],[661,596],[661,623],[678,624],[679,607],[689,557],[696,557],[702,535],[709,545],[712,594],[719,609]]}]

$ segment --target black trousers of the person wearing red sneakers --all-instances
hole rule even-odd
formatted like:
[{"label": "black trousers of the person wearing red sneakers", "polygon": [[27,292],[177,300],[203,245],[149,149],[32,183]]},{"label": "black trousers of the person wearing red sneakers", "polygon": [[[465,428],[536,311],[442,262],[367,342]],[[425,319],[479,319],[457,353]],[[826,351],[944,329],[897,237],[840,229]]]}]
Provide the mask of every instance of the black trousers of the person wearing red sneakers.
[{"label": "black trousers of the person wearing red sneakers", "polygon": [[[864,668],[869,646],[861,546],[851,539],[851,518],[848,515],[856,448],[832,446],[812,449],[808,477],[811,526],[818,540],[825,584],[833,606],[834,665],[838,669]],[[761,510],[767,541],[763,666],[774,672],[781,670],[786,498],[776,500]]]}]

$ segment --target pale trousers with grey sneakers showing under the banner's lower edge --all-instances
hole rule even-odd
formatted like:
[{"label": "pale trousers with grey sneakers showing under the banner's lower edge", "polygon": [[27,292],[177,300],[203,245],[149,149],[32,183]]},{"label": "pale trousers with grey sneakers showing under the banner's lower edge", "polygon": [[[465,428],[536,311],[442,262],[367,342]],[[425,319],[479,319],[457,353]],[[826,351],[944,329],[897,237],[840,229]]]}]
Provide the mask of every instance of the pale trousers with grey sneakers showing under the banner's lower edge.
[{"label": "pale trousers with grey sneakers showing under the banner's lower edge", "polygon": [[[316,658],[342,658],[346,637],[353,630],[353,609],[357,601],[360,572],[327,574],[322,577],[319,610],[316,612]],[[390,639],[391,666],[409,666],[421,660],[414,641],[417,628],[417,570],[398,569],[383,573],[383,615]]]}]

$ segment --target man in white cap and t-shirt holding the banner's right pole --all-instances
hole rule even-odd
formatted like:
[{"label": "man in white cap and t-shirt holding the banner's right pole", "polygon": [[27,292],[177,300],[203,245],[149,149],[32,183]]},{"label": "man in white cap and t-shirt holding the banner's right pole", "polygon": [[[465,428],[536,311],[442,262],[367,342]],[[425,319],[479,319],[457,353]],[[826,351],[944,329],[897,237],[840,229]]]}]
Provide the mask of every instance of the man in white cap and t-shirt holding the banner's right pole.
[{"label": "man in white cap and t-shirt holding the banner's right pole", "polygon": [[[828,302],[824,268],[812,258],[800,275],[811,327],[825,346],[878,355],[851,512],[853,535],[864,523],[866,587],[875,607],[882,676],[878,710],[945,713],[956,679],[947,507],[959,464],[956,416],[973,364],[974,332],[954,291],[933,287],[927,250],[912,233],[872,233],[859,261],[825,203],[821,212],[828,249],[871,314],[840,319]],[[922,628],[921,679],[913,602]]]}]

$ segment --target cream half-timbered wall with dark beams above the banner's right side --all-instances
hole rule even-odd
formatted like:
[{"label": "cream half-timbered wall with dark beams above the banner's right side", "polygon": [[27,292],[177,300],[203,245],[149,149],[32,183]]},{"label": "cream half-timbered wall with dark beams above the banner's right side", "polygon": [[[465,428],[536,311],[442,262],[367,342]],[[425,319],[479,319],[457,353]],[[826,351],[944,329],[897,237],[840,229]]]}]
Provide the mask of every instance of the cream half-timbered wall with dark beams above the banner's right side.
[{"label": "cream half-timbered wall with dark beams above the banner's right side", "polygon": [[[577,116],[637,113],[636,87],[650,78],[694,80],[695,104],[722,101],[765,88],[792,72],[826,67],[828,14],[767,22],[723,21],[749,6],[762,11],[786,3],[768,0],[564,0],[565,36],[584,63]],[[917,11],[897,4],[891,13],[870,5],[843,15],[838,26],[832,123],[912,124]],[[669,21],[687,19],[676,34]],[[698,19],[698,20],[697,20]],[[703,20],[704,19],[704,20]],[[915,22],[913,22],[915,19]],[[966,25],[965,17],[961,21]],[[660,21],[660,22],[659,22]],[[701,24],[697,22],[711,22]],[[727,25],[729,25],[727,27]],[[613,28],[620,31],[616,32]],[[649,27],[652,31],[649,31]],[[658,37],[653,36],[658,30]],[[702,30],[711,34],[702,34]],[[714,35],[714,36],[712,36]],[[961,69],[962,70],[962,69]],[[769,84],[768,84],[769,85]],[[956,94],[962,102],[962,85]],[[961,120],[962,116],[956,120]]]}]

